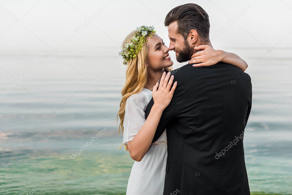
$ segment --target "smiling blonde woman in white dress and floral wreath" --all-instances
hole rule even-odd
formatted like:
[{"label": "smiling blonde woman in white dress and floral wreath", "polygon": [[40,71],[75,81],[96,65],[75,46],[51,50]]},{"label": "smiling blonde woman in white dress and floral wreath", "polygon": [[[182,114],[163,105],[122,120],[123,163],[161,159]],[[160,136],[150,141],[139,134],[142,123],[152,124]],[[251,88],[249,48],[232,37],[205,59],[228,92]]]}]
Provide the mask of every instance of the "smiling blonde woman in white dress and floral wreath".
[{"label": "smiling blonde woman in white dress and floral wreath", "polygon": [[[124,58],[124,65],[127,65],[126,83],[121,92],[117,117],[120,118],[119,132],[123,132],[121,147],[124,145],[135,160],[126,194],[163,194],[167,158],[166,131],[156,142],[152,143],[152,140],[161,114],[170,103],[176,85],[180,83],[173,83],[174,77],[170,77],[173,61],[168,53],[169,48],[156,34],[154,27],[138,27],[126,37],[123,46],[120,55]],[[247,68],[246,62],[234,53],[214,50],[209,46],[198,48],[204,48],[199,54],[204,55],[204,60],[200,64],[193,61],[199,57],[192,58],[190,62],[199,63],[196,67],[223,61],[243,71]],[[144,111],[152,97],[154,105],[145,120]]]}]

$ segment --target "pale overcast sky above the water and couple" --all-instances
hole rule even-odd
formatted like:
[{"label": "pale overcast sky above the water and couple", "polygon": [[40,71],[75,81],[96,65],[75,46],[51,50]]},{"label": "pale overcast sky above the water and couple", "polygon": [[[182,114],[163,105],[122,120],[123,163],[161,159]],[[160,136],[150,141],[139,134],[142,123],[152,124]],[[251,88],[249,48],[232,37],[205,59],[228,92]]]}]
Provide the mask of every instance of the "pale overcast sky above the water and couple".
[{"label": "pale overcast sky above the water and couple", "polygon": [[[114,52],[140,25],[154,25],[168,45],[164,18],[172,8],[188,2],[208,13],[215,48],[292,48],[288,44],[292,43],[292,1],[288,0],[1,0],[0,49]],[[92,18],[93,13],[98,14]],[[237,22],[230,22],[234,17]],[[224,27],[224,33],[216,34]],[[77,28],[79,32],[72,34]]]}]

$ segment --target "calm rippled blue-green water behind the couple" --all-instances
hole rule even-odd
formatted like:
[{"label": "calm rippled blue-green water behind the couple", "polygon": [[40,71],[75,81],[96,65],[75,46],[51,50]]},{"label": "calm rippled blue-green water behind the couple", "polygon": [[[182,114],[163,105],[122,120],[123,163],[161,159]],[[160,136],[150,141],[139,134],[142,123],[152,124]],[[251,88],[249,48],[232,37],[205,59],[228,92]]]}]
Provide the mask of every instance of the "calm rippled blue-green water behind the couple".
[{"label": "calm rippled blue-green water behind the couple", "polygon": [[[2,92],[36,67],[0,99],[0,194],[125,194],[133,160],[116,150],[121,59],[37,54],[0,56]],[[244,137],[251,192],[292,194],[292,60],[245,59],[253,83]]]}]

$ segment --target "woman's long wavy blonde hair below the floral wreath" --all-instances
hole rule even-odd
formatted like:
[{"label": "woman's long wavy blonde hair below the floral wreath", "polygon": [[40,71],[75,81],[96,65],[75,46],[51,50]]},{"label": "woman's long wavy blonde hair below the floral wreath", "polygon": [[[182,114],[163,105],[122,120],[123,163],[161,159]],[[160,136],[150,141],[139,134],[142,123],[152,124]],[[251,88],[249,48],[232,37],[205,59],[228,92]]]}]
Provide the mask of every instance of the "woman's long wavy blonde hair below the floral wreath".
[{"label": "woman's long wavy blonde hair below the floral wreath", "polygon": [[[126,39],[123,41],[122,47],[125,43],[131,43],[131,39],[133,36],[135,36],[135,33],[137,30],[132,31]],[[133,94],[139,93],[144,86],[147,84],[147,67],[146,67],[146,60],[147,60],[147,51],[148,46],[147,43],[145,43],[142,46],[142,49],[137,53],[137,56],[131,60],[128,61],[127,69],[126,69],[126,83],[122,89],[122,99],[120,102],[120,109],[117,114],[120,118],[121,122],[119,125],[119,134],[122,131],[124,133],[124,117],[125,117],[125,107],[126,107],[126,101],[128,97],[130,97]],[[167,71],[171,71],[172,67],[165,68]],[[119,149],[124,144],[122,143]],[[125,150],[128,150],[127,145],[125,145]]]}]

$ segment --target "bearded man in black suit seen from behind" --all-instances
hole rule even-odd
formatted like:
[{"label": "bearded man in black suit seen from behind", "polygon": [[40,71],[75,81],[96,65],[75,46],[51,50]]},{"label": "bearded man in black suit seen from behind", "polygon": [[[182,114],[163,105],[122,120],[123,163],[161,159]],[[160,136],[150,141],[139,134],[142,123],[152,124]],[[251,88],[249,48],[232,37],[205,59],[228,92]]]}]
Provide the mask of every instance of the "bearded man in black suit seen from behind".
[{"label": "bearded man in black suit seen from behind", "polygon": [[[196,4],[173,8],[164,24],[178,62],[190,60],[196,46],[212,46],[208,14]],[[223,62],[192,65],[171,72],[178,85],[152,141],[166,129],[164,195],[249,195],[243,135],[251,111],[251,78]],[[146,118],[152,105],[153,99]]]}]

